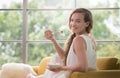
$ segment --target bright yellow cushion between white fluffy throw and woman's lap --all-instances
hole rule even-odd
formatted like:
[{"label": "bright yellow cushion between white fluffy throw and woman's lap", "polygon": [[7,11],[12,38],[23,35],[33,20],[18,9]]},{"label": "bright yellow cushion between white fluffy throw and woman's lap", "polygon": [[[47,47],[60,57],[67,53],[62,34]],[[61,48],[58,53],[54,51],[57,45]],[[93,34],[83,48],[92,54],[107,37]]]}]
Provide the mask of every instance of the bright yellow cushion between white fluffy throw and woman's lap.
[{"label": "bright yellow cushion between white fluffy throw and woman's lap", "polygon": [[47,64],[48,64],[48,62],[50,62],[50,59],[51,59],[51,57],[45,57],[42,59],[42,61],[39,64],[38,71],[37,71],[38,75],[44,74]]}]

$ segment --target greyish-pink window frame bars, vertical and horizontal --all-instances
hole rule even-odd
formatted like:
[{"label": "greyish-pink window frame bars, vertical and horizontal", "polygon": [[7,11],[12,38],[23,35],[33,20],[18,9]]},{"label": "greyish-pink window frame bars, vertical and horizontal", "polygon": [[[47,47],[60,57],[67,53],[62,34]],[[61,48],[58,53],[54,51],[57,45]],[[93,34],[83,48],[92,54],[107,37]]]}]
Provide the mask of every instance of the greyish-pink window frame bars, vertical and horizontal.
[{"label": "greyish-pink window frame bars, vertical and horizontal", "polygon": [[[74,8],[76,8],[76,0],[75,1],[75,6]],[[43,10],[47,10],[47,11],[53,11],[53,10],[72,10],[72,9],[28,9],[28,0],[23,0],[23,8],[22,9],[0,9],[0,11],[22,11],[23,12],[23,26],[22,26],[22,36],[23,39],[22,40],[2,40],[0,42],[18,42],[18,43],[22,43],[22,60],[23,63],[27,63],[28,61],[28,53],[27,53],[27,44],[28,43],[51,43],[49,40],[27,40],[27,28],[28,28],[28,23],[27,23],[27,11],[43,11]],[[88,8],[90,10],[120,10],[120,8]],[[57,40],[59,43],[64,43],[65,40]],[[120,42],[120,40],[96,40],[96,42]]]}]

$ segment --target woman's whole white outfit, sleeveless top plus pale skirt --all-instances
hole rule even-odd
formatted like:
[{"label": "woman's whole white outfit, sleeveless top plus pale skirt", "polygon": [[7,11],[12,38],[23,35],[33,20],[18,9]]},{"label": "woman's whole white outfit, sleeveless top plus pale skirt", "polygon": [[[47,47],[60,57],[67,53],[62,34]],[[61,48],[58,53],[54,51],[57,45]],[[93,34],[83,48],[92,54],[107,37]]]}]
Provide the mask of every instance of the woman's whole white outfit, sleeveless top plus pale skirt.
[{"label": "woman's whole white outfit, sleeveless top plus pale skirt", "polygon": [[[80,35],[80,36],[83,37],[87,45],[86,55],[88,60],[88,68],[89,70],[96,69],[96,53],[93,49],[92,41],[87,35]],[[56,63],[61,64],[61,62],[62,61],[58,55],[55,55],[54,57],[52,57],[50,61],[50,63],[53,63],[53,64],[56,64]],[[68,57],[67,57],[67,66],[72,66],[77,63],[78,63],[78,60],[73,50],[73,43],[72,43],[68,53]],[[71,71],[61,71],[61,72],[55,73],[50,70],[46,70],[43,77],[39,77],[39,78],[69,78],[70,74],[71,74]]]}]

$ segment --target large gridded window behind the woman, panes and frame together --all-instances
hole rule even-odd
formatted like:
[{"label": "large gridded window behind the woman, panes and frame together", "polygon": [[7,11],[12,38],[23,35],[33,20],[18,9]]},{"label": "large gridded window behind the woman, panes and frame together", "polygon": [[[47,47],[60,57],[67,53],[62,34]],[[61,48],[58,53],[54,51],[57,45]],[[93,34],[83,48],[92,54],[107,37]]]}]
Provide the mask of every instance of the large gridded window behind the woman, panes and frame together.
[{"label": "large gridded window behind the woman, panes and frame together", "polygon": [[53,55],[55,49],[44,38],[44,30],[52,29],[63,46],[70,33],[69,15],[78,7],[93,13],[97,56],[120,58],[120,0],[4,0],[0,3],[0,65],[34,65]]}]

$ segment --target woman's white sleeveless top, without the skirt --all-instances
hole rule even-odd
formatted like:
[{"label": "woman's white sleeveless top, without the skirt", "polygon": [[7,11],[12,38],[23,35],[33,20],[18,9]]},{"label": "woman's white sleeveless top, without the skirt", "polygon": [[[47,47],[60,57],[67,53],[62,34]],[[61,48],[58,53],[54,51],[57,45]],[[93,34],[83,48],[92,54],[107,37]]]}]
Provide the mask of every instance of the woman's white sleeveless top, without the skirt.
[{"label": "woman's white sleeveless top, without the skirt", "polygon": [[[86,50],[86,56],[88,61],[88,70],[94,70],[96,69],[96,53],[93,49],[93,42],[91,38],[87,35],[80,35],[86,43],[87,50]],[[67,66],[72,66],[78,63],[77,56],[73,50],[73,43],[70,46],[70,50],[68,53],[66,64]]]}]

